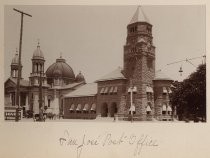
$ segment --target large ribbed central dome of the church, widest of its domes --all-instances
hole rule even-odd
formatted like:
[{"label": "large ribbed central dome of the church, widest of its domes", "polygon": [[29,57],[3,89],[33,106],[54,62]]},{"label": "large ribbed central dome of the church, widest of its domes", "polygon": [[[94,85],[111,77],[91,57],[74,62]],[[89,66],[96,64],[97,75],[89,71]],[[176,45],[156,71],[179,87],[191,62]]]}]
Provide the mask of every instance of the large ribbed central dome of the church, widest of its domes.
[{"label": "large ribbed central dome of the church, widest of its domes", "polygon": [[48,78],[62,77],[75,79],[74,71],[62,57],[56,59],[56,62],[48,67],[46,76]]}]

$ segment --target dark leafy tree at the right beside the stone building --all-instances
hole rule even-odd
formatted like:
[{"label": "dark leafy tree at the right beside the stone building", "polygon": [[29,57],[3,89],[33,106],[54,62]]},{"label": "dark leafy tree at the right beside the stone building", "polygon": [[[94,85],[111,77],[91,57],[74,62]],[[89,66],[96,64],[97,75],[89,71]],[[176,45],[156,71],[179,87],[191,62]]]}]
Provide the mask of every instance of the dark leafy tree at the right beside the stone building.
[{"label": "dark leafy tree at the right beside the stone building", "polygon": [[180,120],[206,120],[206,64],[199,65],[183,82],[174,82],[171,103]]}]

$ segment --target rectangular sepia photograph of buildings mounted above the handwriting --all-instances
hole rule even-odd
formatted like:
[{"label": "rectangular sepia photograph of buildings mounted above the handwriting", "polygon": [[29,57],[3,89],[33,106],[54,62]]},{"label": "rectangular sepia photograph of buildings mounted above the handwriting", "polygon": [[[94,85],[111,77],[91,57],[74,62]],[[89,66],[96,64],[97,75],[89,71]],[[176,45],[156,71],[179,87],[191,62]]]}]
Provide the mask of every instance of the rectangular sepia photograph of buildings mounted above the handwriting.
[{"label": "rectangular sepia photograph of buildings mounted above the handwriting", "polygon": [[5,122],[206,122],[205,5],[5,5]]}]

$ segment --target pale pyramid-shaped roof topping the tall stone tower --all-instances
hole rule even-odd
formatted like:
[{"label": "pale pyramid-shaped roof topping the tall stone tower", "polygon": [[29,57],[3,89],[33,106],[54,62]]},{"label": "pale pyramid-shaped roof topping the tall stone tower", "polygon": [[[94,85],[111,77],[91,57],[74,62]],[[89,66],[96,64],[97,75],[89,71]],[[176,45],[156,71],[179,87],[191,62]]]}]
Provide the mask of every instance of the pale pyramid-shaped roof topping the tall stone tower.
[{"label": "pale pyramid-shaped roof topping the tall stone tower", "polygon": [[146,17],[143,8],[141,6],[138,6],[138,8],[136,9],[135,14],[133,15],[131,21],[129,24],[133,24],[136,22],[147,22],[149,23],[149,19]]}]

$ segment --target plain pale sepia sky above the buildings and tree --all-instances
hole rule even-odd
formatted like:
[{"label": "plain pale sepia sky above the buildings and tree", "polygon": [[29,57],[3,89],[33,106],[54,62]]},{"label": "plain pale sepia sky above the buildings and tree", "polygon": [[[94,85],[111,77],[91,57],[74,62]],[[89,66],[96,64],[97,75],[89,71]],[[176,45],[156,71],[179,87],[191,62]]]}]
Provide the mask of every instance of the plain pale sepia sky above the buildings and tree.
[{"label": "plain pale sepia sky above the buildings and tree", "polygon": [[[123,46],[127,25],[137,6],[5,6],[4,70],[10,76],[10,64],[19,48],[20,14],[24,16],[22,43],[22,76],[28,80],[32,55],[38,40],[45,57],[45,71],[62,57],[75,75],[80,71],[88,83],[94,82],[119,66],[123,67]],[[167,65],[206,54],[205,6],[142,6],[153,25],[156,47],[156,71],[173,80],[183,80],[202,63],[202,58]],[[180,67],[183,74],[178,72]]]}]

